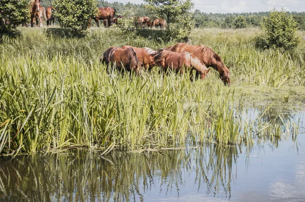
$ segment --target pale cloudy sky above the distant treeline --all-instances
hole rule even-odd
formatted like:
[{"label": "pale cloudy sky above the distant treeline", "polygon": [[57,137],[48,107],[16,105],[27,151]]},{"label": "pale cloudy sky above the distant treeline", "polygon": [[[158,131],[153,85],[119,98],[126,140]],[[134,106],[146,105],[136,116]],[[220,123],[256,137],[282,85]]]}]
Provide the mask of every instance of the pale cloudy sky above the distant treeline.
[{"label": "pale cloudy sky above the distant treeline", "polygon": [[[107,0],[126,4],[141,4],[142,0]],[[243,13],[269,11],[273,8],[305,12],[305,0],[192,0],[195,9],[204,13]]]}]

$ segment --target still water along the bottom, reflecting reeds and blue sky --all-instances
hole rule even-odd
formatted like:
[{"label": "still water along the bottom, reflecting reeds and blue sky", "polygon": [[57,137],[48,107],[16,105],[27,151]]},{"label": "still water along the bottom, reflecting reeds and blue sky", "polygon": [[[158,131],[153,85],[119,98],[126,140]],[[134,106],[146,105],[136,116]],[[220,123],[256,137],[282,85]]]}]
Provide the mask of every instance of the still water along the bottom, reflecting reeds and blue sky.
[{"label": "still water along the bottom, reflecting reeds and blue sky", "polygon": [[[305,113],[300,126],[305,126]],[[290,115],[291,117],[291,115]],[[305,201],[305,134],[245,147],[0,159],[0,201]]]}]

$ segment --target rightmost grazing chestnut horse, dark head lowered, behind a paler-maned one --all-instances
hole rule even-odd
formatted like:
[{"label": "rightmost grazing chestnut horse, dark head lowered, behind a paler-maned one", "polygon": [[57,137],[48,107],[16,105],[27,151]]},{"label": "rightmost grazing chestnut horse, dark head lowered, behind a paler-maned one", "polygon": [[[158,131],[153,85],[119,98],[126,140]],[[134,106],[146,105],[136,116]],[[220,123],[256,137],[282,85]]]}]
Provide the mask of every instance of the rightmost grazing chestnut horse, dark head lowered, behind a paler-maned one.
[{"label": "rightmost grazing chestnut horse, dark head lowered, behind a paler-maned one", "polygon": [[174,46],[170,46],[165,48],[164,50],[170,50],[174,52],[183,52],[187,51],[189,53],[193,53],[196,57],[198,57],[206,66],[211,66],[215,70],[219,72],[220,79],[224,82],[225,85],[231,84],[230,81],[230,66],[226,66],[220,56],[216,54],[212,49],[200,45],[200,46],[193,46],[184,43],[178,43]]}]

